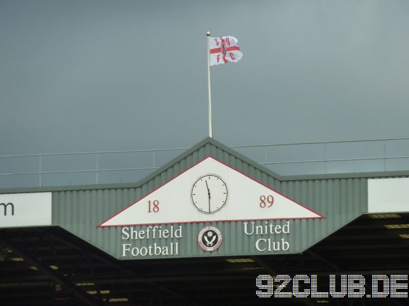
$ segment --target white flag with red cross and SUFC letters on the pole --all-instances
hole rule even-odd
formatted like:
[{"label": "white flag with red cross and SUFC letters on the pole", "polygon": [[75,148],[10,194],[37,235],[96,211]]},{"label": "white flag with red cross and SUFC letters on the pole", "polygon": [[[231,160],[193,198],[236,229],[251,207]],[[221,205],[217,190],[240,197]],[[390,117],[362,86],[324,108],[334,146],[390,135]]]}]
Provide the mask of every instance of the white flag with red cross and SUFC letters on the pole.
[{"label": "white flag with red cross and SUFC letters on the pole", "polygon": [[237,41],[233,36],[210,37],[210,66],[240,61],[243,54]]}]

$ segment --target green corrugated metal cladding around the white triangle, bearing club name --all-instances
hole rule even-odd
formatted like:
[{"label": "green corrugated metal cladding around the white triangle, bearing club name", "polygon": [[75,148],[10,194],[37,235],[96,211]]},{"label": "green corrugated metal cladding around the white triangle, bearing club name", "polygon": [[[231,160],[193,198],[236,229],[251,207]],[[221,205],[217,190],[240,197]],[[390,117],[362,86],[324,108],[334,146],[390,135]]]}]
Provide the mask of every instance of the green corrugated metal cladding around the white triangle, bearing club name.
[{"label": "green corrugated metal cladding around the white triangle, bearing club name", "polygon": [[[180,228],[181,238],[123,239],[127,237],[123,237],[122,226],[97,227],[208,156],[325,218],[247,222],[247,232],[257,226],[261,228],[260,225],[269,226],[270,223],[280,225],[280,228],[285,228],[286,225],[289,227],[289,233],[282,231],[278,234],[261,235],[244,233],[243,221],[162,225],[161,230],[175,231]],[[139,183],[53,191],[53,224],[118,259],[300,253],[365,213],[366,208],[365,177],[281,177],[212,138],[201,141]],[[197,242],[198,234],[205,226],[215,226],[222,233],[222,244],[212,252],[202,250]],[[133,226],[132,230],[146,232],[147,227],[148,225]],[[127,231],[130,231],[129,228]],[[263,239],[258,245],[260,250],[256,248],[259,239]]]}]

